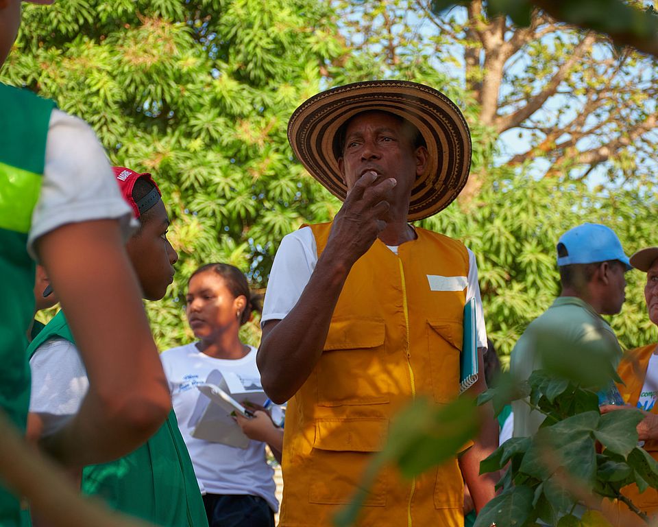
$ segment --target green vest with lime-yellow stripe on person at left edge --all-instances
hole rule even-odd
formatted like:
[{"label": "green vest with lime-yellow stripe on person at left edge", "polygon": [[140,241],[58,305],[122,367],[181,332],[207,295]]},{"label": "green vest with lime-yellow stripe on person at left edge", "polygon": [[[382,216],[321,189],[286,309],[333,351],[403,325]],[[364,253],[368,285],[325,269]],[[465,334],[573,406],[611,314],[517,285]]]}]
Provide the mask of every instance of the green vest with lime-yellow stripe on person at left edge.
[{"label": "green vest with lime-yellow stripe on person at left edge", "polygon": [[[34,315],[34,261],[27,234],[39,197],[55,106],[0,84],[0,408],[25,430],[29,405],[27,328]],[[19,526],[19,502],[0,486],[0,525]]]}]

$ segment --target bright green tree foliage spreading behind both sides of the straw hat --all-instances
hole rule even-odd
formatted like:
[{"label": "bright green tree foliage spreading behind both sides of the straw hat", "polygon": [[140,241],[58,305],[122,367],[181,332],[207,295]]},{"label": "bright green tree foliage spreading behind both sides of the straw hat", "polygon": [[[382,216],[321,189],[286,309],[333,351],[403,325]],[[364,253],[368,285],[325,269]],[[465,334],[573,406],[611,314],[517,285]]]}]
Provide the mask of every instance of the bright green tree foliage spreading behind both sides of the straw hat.
[{"label": "bright green tree foliage spreading behind both sides of the straw hat", "polygon": [[[182,296],[197,266],[227,261],[265,288],[280,239],[339,209],[293,159],[286,126],[297,104],[345,82],[417,80],[463,108],[473,169],[486,174],[485,183],[472,200],[423,224],[476,253],[487,330],[502,353],[558,294],[554,247],[563,231],[604,222],[628,253],[655,244],[653,188],[589,190],[559,178],[533,180],[523,167],[497,168],[498,137],[478,123],[461,80],[426,54],[391,67],[383,44],[350,49],[352,39],[341,32],[354,26],[341,24],[337,9],[315,0],[61,0],[25,8],[0,78],[88,121],[112,163],[153,172],[164,192],[180,262],[170,294],[148,306],[162,349],[193,338]],[[655,331],[643,275],[627,276],[629,300],[612,324],[624,347],[635,347]],[[258,342],[257,320],[243,337]]]}]

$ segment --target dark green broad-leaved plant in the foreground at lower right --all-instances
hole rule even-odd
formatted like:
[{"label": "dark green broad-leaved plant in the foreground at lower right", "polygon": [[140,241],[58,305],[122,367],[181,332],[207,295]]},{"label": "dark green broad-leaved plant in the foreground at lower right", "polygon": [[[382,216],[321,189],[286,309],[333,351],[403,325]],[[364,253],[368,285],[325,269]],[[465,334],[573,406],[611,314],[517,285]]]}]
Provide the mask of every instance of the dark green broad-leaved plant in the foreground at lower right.
[{"label": "dark green broad-leaved plant in the foreground at lower right", "polygon": [[[620,500],[646,519],[620,492],[631,483],[640,491],[658,484],[658,463],[637,446],[635,427],[644,415],[635,409],[600,414],[596,391],[609,386],[614,374],[598,352],[574,349],[555,334],[538,336],[537,342],[546,370],[533,372],[522,384],[506,375],[479,398],[480,403],[493,401],[496,412],[511,399],[524,399],[546,419],[535,436],[510,439],[480,465],[483,473],[502,471],[504,476],[498,484],[502,491],[480,511],[476,527],[493,522],[530,527],[539,520],[577,526],[576,504],[597,509],[603,498]],[[572,367],[565,368],[567,363]],[[582,520],[609,525],[600,517],[596,521]]]}]

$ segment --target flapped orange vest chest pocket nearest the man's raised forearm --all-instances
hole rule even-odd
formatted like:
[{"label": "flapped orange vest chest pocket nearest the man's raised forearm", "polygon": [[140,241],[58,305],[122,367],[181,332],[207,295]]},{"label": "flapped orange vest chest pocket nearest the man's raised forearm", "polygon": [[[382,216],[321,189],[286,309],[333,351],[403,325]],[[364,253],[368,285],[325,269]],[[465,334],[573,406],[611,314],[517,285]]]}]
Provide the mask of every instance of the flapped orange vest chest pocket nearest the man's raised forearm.
[{"label": "flapped orange vest chest pocket nearest the man's raised forearm", "polygon": [[382,318],[332,319],[322,356],[315,366],[319,406],[389,402],[391,373]]}]

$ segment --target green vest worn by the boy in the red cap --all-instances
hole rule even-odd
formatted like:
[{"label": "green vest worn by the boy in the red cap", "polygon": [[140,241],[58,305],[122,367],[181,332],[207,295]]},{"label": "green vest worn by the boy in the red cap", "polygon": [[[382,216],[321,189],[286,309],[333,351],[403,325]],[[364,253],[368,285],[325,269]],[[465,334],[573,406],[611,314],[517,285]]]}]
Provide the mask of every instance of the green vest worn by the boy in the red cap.
[{"label": "green vest worn by the boy in the red cap", "polygon": [[[29,344],[29,357],[47,340],[73,340],[60,311]],[[207,527],[206,511],[173,410],[149,441],[121,459],[82,471],[82,492],[163,527]]]}]

